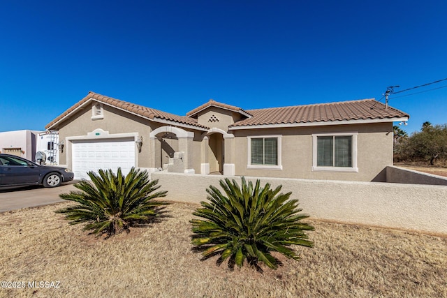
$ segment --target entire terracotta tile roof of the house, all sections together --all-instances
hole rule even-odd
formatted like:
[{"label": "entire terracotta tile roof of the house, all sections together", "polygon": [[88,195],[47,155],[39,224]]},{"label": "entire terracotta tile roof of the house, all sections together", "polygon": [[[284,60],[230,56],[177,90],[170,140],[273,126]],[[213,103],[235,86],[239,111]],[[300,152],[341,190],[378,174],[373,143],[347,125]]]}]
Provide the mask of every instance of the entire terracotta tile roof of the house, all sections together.
[{"label": "entire terracotta tile roof of the house, all sections together", "polygon": [[409,114],[406,114],[405,112],[397,110],[393,107],[388,107],[388,109],[386,109],[383,103],[379,103],[374,99],[352,100],[338,103],[321,103],[316,105],[296,105],[291,107],[270,107],[247,111],[242,110],[240,107],[226,105],[224,103],[218,103],[217,101],[210,100],[207,103],[200,105],[200,107],[196,107],[196,109],[191,110],[186,114],[186,116],[178,116],[176,114],[170,114],[168,112],[144,107],[142,105],[135,105],[133,103],[128,103],[123,100],[103,96],[90,91],[85,98],[82,98],[82,100],[78,103],[59,115],[59,117],[47,124],[45,128],[57,129],[56,125],[59,121],[63,120],[65,117],[68,117],[71,112],[87,103],[87,101],[91,98],[98,102],[129,111],[133,114],[138,114],[148,119],[154,119],[155,121],[157,119],[161,119],[204,129],[209,128],[198,124],[197,119],[193,117],[201,110],[204,110],[210,106],[223,107],[227,110],[244,114],[248,118],[237,121],[230,127],[247,126],[247,128],[249,128],[249,126],[314,122],[327,122],[327,124],[330,125],[330,122],[332,121],[353,121],[362,119],[390,119],[390,121],[393,121],[393,118],[397,119],[409,117]]}]

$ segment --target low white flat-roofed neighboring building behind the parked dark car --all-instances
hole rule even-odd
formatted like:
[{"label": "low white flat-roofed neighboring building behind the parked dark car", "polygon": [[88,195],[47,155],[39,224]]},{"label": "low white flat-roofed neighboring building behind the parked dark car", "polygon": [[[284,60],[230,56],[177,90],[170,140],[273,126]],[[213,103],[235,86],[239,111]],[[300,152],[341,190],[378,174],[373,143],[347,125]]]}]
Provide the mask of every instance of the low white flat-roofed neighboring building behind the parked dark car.
[{"label": "low white flat-roofed neighboring building behind the parked dark car", "polygon": [[5,131],[0,133],[0,152],[35,161],[38,131]]}]

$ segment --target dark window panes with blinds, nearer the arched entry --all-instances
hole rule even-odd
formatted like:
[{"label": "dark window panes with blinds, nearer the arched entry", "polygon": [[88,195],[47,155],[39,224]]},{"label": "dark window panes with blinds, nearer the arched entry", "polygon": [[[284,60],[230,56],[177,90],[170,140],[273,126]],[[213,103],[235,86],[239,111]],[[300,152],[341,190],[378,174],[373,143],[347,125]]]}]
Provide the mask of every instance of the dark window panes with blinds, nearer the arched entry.
[{"label": "dark window panes with blinds, nearer the arched entry", "polygon": [[278,165],[277,137],[256,137],[251,139],[252,165]]}]

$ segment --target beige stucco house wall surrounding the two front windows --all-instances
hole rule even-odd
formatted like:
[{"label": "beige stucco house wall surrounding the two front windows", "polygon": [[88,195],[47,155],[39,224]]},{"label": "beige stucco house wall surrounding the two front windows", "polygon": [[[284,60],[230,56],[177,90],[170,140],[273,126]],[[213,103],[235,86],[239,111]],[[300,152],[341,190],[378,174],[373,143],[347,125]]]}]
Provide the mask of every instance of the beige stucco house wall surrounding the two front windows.
[{"label": "beige stucco house wall surrounding the two front windows", "polygon": [[[350,181],[386,181],[384,169],[393,165],[393,124],[356,124],[233,130],[235,174],[255,177],[291,177]],[[312,171],[312,134],[358,133],[358,172]],[[281,135],[282,170],[247,169],[248,136]],[[381,174],[379,174],[381,173]]]}]

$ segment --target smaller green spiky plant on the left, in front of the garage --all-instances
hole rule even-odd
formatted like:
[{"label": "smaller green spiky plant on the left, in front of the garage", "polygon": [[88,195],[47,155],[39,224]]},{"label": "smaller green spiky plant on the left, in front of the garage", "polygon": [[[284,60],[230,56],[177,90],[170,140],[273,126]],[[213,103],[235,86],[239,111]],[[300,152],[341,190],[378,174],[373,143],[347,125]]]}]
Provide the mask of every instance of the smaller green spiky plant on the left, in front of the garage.
[{"label": "smaller green spiky plant on the left, in front of the garage", "polygon": [[158,180],[149,180],[147,171],[131,168],[124,176],[121,167],[117,174],[112,170],[98,170],[88,173],[91,181],[82,179],[75,188],[79,191],[62,193],[64,200],[78,202],[75,206],[59,209],[66,214],[71,225],[87,223],[84,230],[94,234],[129,232],[129,227],[152,221],[159,215],[161,205],[168,204],[153,200],[166,196],[166,191],[155,192],[160,186]]}]

